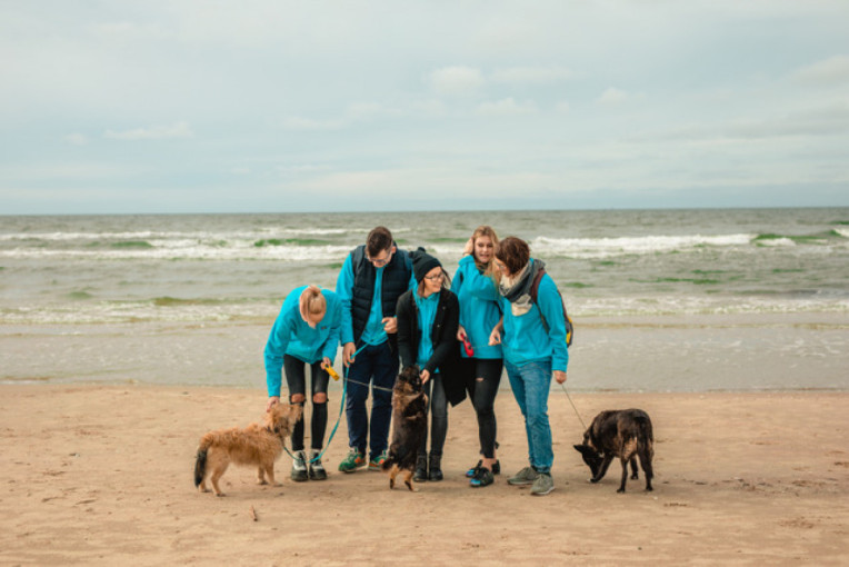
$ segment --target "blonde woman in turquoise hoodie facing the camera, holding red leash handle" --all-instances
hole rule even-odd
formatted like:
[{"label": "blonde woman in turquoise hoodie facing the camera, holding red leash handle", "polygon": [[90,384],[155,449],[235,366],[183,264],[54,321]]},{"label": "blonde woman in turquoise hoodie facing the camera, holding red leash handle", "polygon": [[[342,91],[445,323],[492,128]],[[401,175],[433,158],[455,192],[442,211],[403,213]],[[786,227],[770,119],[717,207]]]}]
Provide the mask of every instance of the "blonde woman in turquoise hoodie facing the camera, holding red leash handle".
[{"label": "blonde woman in turquoise hoodie facing the camera, holding red leash handle", "polygon": [[501,346],[489,345],[489,335],[501,319],[492,262],[497,245],[498,236],[492,227],[475,229],[451,282],[451,291],[460,300],[457,339],[465,345],[460,348],[463,375],[471,380],[469,391],[478,416],[480,454],[483,457],[466,474],[472,487],[491,485],[493,475],[501,471],[496,456],[495,402],[503,364]]}]

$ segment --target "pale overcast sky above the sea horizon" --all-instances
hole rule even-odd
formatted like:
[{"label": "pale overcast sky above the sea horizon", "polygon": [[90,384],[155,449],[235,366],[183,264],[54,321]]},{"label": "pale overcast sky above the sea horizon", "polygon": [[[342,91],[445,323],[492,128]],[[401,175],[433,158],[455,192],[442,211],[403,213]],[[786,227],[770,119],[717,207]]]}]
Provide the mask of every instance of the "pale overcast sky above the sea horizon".
[{"label": "pale overcast sky above the sea horizon", "polygon": [[0,215],[849,206],[843,0],[0,0]]}]

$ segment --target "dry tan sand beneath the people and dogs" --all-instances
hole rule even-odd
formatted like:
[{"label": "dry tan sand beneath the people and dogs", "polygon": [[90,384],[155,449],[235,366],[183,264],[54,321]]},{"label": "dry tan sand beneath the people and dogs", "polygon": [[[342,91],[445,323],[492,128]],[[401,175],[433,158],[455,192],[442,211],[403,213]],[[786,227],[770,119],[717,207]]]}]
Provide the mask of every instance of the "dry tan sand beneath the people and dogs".
[{"label": "dry tan sand beneath the people and dogs", "polygon": [[[511,392],[497,400],[496,484],[471,489],[471,406],[452,409],[446,480],[389,490],[380,472],[343,475],[342,419],[326,481],[253,484],[231,468],[224,498],[194,491],[198,438],[260,417],[261,389],[164,386],[0,387],[4,565],[846,565],[849,394],[577,394],[585,421],[640,407],[655,422],[655,491],[616,494],[618,467],[590,485],[571,445],[581,424],[555,390],[557,489],[508,486],[526,464]],[[331,399],[331,427],[339,410]],[[254,519],[256,514],[256,519]]]}]

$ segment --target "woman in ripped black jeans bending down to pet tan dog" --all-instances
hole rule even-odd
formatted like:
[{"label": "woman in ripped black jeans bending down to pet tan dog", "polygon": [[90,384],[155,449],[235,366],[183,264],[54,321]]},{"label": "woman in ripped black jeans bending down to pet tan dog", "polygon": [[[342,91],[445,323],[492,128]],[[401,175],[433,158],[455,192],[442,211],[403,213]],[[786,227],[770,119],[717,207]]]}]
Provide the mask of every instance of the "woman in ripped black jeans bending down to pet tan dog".
[{"label": "woman in ripped black jeans bending down to pet tan dog", "polygon": [[[328,367],[339,348],[342,322],[342,304],[333,291],[317,286],[293,289],[283,301],[266,344],[266,382],[268,386],[268,409],[280,401],[281,372],[286,369],[289,387],[289,402],[303,406],[306,402],[306,365],[311,375],[311,450],[307,458],[303,447],[306,416],[292,430],[292,480],[309,478],[323,480],[327,471],[321,465],[320,454],[327,431],[327,387]],[[307,465],[309,462],[309,470]]]}]

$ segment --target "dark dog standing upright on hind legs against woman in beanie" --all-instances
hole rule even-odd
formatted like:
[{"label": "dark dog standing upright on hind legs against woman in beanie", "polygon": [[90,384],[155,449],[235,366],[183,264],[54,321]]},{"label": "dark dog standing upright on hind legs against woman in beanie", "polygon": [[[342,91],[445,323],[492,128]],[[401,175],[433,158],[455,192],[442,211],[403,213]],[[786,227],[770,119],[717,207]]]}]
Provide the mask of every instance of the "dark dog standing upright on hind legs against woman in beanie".
[{"label": "dark dog standing upright on hind legs against woman in beanie", "polygon": [[418,366],[404,368],[392,389],[392,442],[383,461],[389,471],[389,488],[394,488],[394,477],[404,471],[403,484],[412,490],[412,472],[416,456],[428,430],[428,397],[421,391]]}]

